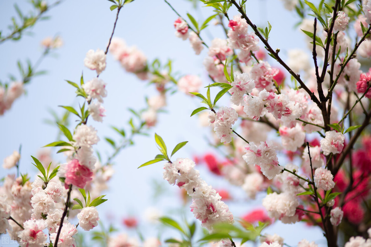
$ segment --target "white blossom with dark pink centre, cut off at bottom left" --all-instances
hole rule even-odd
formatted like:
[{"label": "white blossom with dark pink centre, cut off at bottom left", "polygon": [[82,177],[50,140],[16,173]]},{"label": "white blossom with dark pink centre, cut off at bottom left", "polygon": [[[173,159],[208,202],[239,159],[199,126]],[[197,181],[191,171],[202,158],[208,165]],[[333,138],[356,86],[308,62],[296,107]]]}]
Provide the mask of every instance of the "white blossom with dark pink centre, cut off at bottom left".
[{"label": "white blossom with dark pink centre, cut off at bottom left", "polygon": [[27,220],[23,223],[23,231],[18,233],[19,244],[22,247],[42,247],[46,242],[44,220]]}]

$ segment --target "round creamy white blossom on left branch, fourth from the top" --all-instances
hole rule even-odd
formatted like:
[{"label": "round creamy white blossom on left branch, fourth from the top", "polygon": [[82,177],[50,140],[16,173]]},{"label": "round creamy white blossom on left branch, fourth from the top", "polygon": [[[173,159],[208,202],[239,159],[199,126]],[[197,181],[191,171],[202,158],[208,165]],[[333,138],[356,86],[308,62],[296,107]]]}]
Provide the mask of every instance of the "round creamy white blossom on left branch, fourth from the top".
[{"label": "round creamy white blossom on left branch, fourth from the top", "polygon": [[75,146],[91,148],[92,145],[97,144],[99,141],[96,132],[93,126],[87,126],[86,124],[77,126],[72,137],[75,140]]}]

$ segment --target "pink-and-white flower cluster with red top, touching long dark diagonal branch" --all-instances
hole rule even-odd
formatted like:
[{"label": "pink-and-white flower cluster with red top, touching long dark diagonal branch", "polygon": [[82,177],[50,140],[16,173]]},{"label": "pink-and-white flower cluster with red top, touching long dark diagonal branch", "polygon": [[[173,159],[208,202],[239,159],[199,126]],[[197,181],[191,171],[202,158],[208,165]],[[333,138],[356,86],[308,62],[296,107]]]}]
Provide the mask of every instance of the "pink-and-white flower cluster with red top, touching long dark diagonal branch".
[{"label": "pink-and-white flower cluster with red top, touching long dark diagonal branch", "polygon": [[244,19],[241,19],[239,15],[233,16],[233,20],[229,20],[228,26],[231,28],[228,30],[228,44],[232,49],[240,49],[238,57],[243,63],[249,63],[252,51],[259,50],[259,39],[254,33],[248,33],[248,25]]}]

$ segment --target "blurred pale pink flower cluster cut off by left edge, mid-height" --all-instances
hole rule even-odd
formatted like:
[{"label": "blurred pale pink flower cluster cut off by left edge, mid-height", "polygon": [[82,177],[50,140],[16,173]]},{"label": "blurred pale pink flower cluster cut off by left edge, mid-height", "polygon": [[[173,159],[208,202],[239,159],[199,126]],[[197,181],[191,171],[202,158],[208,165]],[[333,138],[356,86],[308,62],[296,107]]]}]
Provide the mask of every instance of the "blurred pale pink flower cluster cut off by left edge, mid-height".
[{"label": "blurred pale pink flower cluster cut off by left edge, mid-height", "polygon": [[14,100],[24,92],[23,83],[13,81],[7,89],[0,87],[0,116],[12,107]]}]

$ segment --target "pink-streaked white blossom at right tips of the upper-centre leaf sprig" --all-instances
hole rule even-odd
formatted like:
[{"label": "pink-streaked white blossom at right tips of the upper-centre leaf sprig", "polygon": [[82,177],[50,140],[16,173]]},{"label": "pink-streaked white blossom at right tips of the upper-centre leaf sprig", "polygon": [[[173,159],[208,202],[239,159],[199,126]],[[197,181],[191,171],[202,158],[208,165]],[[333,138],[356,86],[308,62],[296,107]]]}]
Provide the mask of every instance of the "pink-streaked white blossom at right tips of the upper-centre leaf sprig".
[{"label": "pink-streaked white blossom at right tips of the upper-centre leaf sprig", "polygon": [[255,81],[250,79],[247,73],[233,73],[234,81],[231,83],[233,86],[229,91],[231,96],[231,102],[236,106],[239,106],[243,101],[244,94],[250,94],[255,88]]}]

